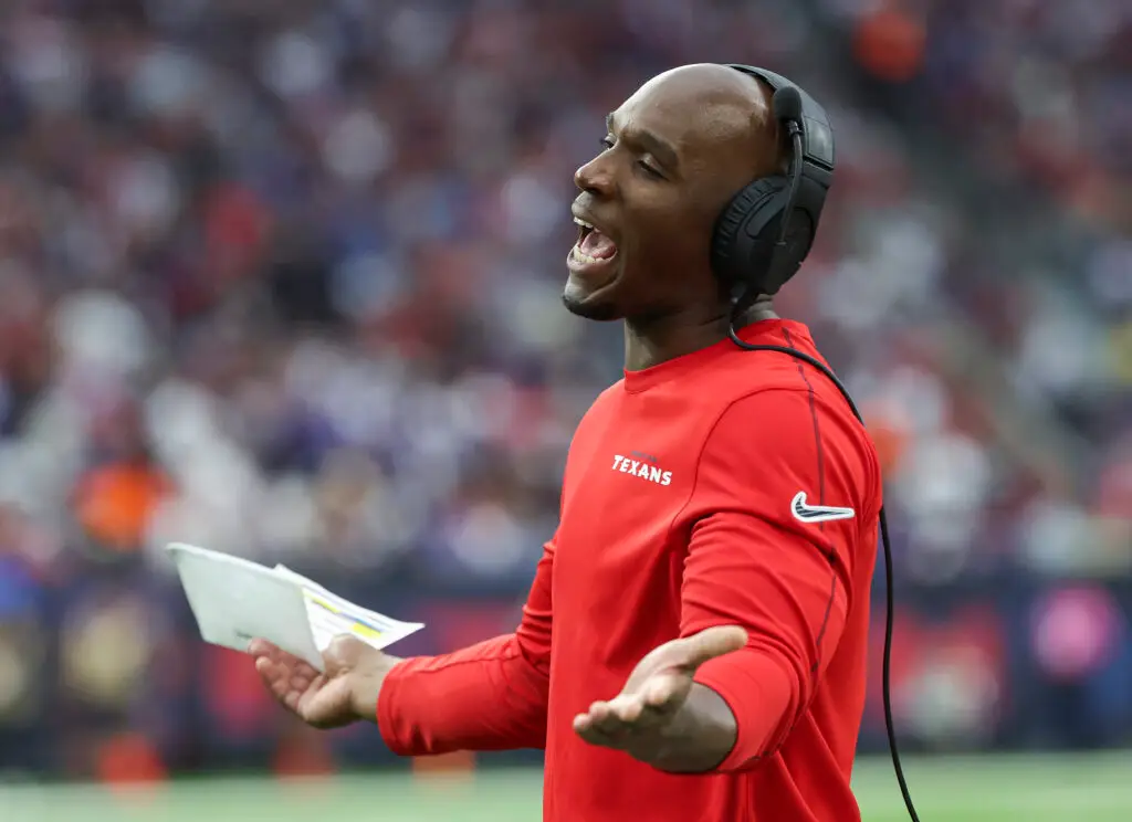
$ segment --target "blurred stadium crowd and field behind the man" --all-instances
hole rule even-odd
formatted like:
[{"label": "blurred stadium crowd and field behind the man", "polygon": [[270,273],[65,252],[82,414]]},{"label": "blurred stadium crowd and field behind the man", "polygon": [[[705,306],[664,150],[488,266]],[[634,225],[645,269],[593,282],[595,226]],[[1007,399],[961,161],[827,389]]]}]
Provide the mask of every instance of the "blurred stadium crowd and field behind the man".
[{"label": "blurred stadium crowd and field behind the man", "polygon": [[3,2],[0,817],[538,817],[533,754],[298,727],[163,545],[428,623],[395,652],[509,630],[620,367],[558,301],[572,173],[740,60],[837,131],[779,304],[883,453],[921,815],[1129,819],[1130,55],[1108,0]]}]

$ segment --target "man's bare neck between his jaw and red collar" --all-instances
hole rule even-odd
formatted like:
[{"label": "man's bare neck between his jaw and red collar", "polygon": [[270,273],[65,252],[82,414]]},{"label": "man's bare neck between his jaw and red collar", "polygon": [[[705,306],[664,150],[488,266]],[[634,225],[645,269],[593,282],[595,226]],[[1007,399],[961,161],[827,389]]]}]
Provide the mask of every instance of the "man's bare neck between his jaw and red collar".
[{"label": "man's bare neck between his jaw and red collar", "polygon": [[[778,314],[769,296],[758,297],[735,323],[736,328]],[[688,310],[648,320],[625,321],[625,367],[641,371],[668,360],[709,348],[727,338],[730,311],[726,305]]]}]

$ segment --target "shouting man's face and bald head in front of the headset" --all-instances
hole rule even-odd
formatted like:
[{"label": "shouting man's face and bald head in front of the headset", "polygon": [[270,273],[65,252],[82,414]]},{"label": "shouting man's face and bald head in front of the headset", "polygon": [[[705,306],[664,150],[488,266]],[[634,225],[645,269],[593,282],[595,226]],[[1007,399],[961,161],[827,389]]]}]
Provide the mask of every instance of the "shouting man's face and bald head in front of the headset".
[{"label": "shouting man's face and bald head in front of the headset", "polygon": [[574,176],[567,309],[648,320],[719,302],[712,228],[765,154],[760,106],[749,78],[693,66],[653,78],[609,115],[601,152]]}]

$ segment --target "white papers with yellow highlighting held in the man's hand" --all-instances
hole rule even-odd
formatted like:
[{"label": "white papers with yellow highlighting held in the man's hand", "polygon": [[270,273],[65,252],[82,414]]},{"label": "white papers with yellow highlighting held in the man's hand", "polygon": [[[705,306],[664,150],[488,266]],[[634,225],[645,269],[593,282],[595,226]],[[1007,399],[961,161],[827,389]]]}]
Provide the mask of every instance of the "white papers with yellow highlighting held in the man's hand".
[{"label": "white papers with yellow highlighting held in the man's hand", "polygon": [[265,639],[323,670],[321,651],[340,634],[383,649],[424,626],[354,605],[283,565],[180,543],[169,551],[206,642],[247,651]]}]

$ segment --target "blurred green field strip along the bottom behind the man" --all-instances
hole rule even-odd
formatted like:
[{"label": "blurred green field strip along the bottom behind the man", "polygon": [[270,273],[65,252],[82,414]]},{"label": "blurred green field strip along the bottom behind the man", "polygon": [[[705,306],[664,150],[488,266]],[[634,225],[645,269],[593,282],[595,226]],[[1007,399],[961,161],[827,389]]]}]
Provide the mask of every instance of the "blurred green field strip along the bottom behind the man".
[{"label": "blurred green field strip along the bottom behind the man", "polygon": [[[1105,756],[915,760],[906,763],[923,822],[1127,822],[1132,752]],[[886,760],[855,779],[864,817],[906,819]],[[378,773],[278,784],[247,779],[174,782],[156,793],[110,795],[89,786],[0,786],[2,822],[537,822],[539,773],[488,771],[473,780]]]}]

